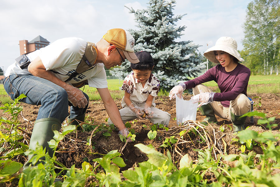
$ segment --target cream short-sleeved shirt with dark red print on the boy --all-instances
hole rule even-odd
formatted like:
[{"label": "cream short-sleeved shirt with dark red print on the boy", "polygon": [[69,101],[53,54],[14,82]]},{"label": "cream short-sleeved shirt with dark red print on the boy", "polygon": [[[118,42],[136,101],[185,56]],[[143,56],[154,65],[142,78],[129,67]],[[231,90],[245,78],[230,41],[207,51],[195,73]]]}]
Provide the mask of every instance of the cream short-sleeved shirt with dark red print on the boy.
[{"label": "cream short-sleeved shirt with dark red print on the boy", "polygon": [[[129,74],[125,79],[121,87],[127,93],[130,93],[130,101],[135,104],[146,102],[149,94],[154,96],[152,106],[156,107],[155,97],[157,96],[160,88],[159,80],[151,74],[144,87],[142,83],[134,77],[133,72]],[[126,106],[124,98],[122,99],[122,107]]]}]

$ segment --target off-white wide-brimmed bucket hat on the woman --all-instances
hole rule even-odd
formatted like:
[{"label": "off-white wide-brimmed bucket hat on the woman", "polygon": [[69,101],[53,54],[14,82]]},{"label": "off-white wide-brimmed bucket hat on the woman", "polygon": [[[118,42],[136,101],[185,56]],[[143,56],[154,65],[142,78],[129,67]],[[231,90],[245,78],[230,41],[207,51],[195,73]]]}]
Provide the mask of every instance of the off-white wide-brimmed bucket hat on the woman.
[{"label": "off-white wide-brimmed bucket hat on the woman", "polygon": [[216,59],[216,55],[214,54],[214,51],[217,50],[227,52],[228,54],[237,58],[237,60],[240,62],[244,61],[244,59],[241,58],[241,55],[237,51],[237,42],[231,37],[222,36],[216,41],[215,46],[206,50],[203,55],[211,62],[219,64],[219,61]]}]

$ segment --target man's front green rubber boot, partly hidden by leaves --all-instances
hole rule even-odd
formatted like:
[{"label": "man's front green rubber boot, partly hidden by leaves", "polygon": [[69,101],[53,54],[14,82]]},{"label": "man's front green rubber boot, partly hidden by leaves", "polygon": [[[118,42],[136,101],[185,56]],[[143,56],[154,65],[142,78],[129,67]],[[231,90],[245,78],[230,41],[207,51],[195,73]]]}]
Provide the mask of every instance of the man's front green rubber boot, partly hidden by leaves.
[{"label": "man's front green rubber boot, partly hidden by leaves", "polygon": [[[54,150],[49,147],[48,141],[53,139],[54,131],[60,131],[61,122],[57,118],[42,118],[38,119],[34,123],[32,135],[30,138],[29,149],[35,150],[37,143],[40,146],[43,146],[43,149],[46,148],[46,151],[49,151],[49,156],[53,157]],[[23,168],[26,169],[31,164],[30,160],[34,155],[28,155],[28,161],[24,164]],[[40,160],[45,160],[44,157]],[[38,165],[42,161],[38,161],[35,165]]]}]

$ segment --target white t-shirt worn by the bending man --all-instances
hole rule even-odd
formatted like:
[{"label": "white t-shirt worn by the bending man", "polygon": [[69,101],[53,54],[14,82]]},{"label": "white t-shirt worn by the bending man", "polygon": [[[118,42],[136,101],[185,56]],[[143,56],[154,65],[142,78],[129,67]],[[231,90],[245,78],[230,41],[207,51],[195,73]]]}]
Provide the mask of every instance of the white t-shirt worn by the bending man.
[{"label": "white t-shirt worn by the bending man", "polygon": [[[32,62],[37,56],[42,60],[46,70],[54,70],[53,73],[58,79],[65,81],[75,72],[82,56],[86,50],[87,42],[81,38],[63,38],[54,41],[50,45],[35,50],[26,56]],[[11,74],[30,74],[27,68],[21,70],[18,63],[10,65],[5,76]],[[106,72],[103,63],[97,63],[94,68],[78,74],[70,80],[70,83],[78,83],[88,80],[90,87],[107,88]]]}]

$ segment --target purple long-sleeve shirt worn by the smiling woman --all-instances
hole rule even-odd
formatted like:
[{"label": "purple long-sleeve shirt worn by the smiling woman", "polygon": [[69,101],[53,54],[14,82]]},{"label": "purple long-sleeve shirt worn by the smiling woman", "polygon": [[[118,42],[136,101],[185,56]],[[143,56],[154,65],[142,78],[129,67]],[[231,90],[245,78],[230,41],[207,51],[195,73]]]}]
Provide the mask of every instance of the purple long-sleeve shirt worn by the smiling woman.
[{"label": "purple long-sleeve shirt worn by the smiling woman", "polygon": [[221,93],[215,93],[213,101],[221,101],[224,107],[229,107],[230,101],[235,99],[240,93],[247,96],[250,74],[250,69],[241,64],[238,64],[231,72],[226,72],[222,65],[216,65],[203,75],[186,81],[184,84],[186,89],[191,89],[198,84],[214,80],[218,84]]}]

